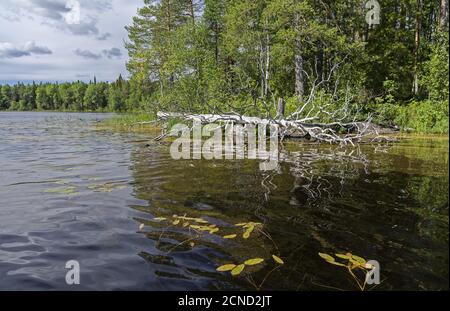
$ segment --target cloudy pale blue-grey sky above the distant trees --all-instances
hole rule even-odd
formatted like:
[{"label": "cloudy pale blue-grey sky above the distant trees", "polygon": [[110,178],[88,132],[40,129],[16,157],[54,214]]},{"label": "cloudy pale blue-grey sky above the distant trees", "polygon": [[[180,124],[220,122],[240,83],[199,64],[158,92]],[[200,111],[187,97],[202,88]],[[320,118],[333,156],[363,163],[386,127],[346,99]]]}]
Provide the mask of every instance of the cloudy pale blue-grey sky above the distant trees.
[{"label": "cloudy pale blue-grey sky above the distant trees", "polygon": [[0,84],[127,77],[126,25],[142,0],[0,0]]}]

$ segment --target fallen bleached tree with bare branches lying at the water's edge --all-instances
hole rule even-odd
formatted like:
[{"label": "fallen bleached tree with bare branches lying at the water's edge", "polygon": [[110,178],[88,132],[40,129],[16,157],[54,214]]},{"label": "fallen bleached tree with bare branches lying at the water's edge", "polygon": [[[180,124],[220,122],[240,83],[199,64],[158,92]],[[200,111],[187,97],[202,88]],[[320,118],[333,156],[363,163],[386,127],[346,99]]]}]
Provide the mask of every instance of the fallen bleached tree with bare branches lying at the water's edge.
[{"label": "fallen bleached tree with bare branches lying at the water's edge", "polygon": [[[157,117],[160,120],[180,118],[201,124],[226,123],[251,124],[251,125],[277,125],[279,135],[284,138],[304,138],[312,141],[354,144],[360,142],[365,137],[376,138],[384,133],[381,127],[373,124],[369,118],[365,122],[330,122],[313,123],[309,120],[289,120],[285,119],[281,113],[284,112],[283,103],[279,102],[278,115],[275,119],[258,118],[243,116],[236,113],[222,114],[189,114],[176,112],[158,112]],[[159,137],[159,139],[162,137]]]}]

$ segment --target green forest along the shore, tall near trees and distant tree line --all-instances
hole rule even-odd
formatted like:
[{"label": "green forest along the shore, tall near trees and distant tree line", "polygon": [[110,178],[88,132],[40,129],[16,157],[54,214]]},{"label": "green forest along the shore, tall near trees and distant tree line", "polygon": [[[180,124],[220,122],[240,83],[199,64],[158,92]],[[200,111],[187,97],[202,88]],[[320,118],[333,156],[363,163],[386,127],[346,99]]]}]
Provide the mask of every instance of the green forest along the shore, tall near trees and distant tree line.
[{"label": "green forest along the shore, tall near trees and distant tree line", "polygon": [[128,81],[3,86],[0,109],[274,116],[281,100],[448,131],[448,0],[144,0],[126,30]]}]

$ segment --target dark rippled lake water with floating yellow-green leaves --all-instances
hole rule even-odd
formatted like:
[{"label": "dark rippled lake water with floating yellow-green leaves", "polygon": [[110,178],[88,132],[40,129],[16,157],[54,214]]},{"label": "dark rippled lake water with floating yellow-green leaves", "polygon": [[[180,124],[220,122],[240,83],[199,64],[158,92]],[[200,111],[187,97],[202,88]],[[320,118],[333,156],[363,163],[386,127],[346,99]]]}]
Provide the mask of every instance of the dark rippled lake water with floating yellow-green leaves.
[{"label": "dark rippled lake water with floating yellow-green leaves", "polygon": [[[264,172],[173,160],[155,133],[98,127],[106,117],[0,113],[1,290],[358,289],[319,252],[378,261],[375,290],[448,290],[448,137],[289,143]],[[235,224],[250,222],[244,238]],[[264,261],[216,271],[251,258]]]}]

